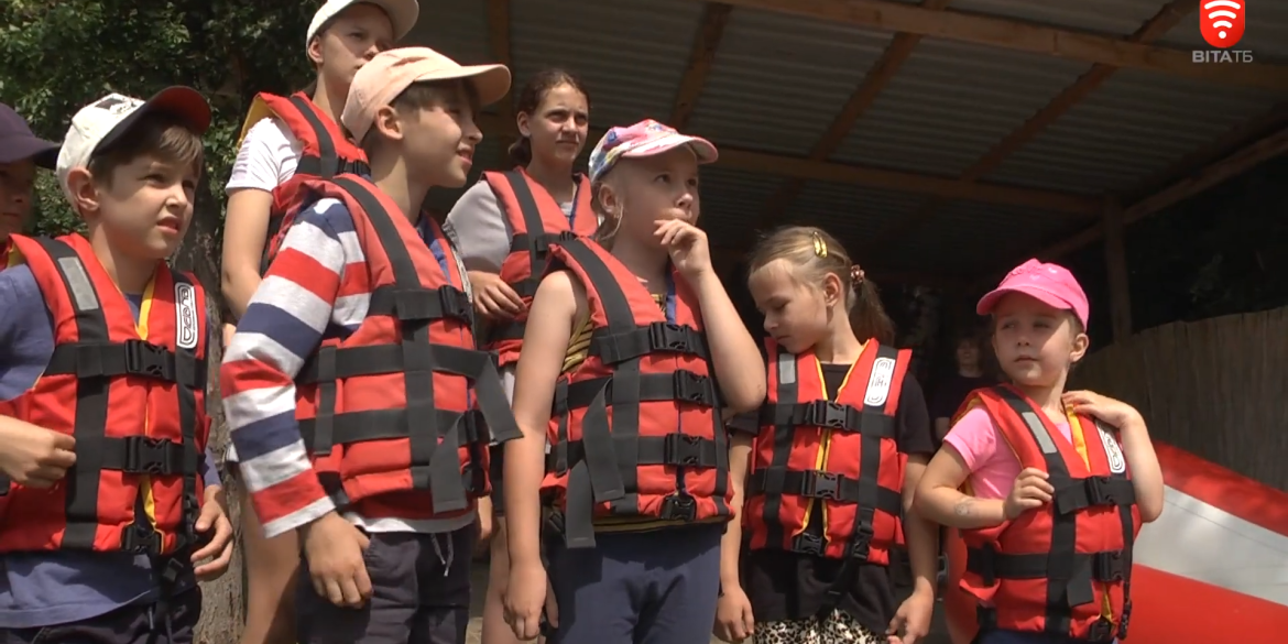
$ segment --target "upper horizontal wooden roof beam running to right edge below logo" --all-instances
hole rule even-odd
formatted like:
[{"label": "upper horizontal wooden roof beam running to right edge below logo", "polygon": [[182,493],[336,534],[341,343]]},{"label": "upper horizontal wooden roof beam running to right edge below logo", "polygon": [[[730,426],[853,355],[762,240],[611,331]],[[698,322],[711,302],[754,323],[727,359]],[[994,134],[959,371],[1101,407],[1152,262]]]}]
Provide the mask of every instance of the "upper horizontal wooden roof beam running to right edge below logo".
[{"label": "upper horizontal wooden roof beam running to right edge below logo", "polygon": [[1216,85],[1288,90],[1288,66],[1267,63],[1194,64],[1189,50],[1127,43],[1074,31],[965,12],[934,12],[894,0],[724,0],[734,6],[900,31],[960,43],[1054,55],[1069,61],[1184,76]]}]

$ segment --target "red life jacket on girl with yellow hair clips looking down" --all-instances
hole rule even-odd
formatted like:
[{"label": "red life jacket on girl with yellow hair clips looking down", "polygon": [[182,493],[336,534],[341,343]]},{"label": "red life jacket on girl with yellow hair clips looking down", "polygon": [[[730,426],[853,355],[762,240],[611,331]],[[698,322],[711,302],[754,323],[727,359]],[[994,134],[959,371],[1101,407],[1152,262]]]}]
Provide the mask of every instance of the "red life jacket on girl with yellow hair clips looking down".
[{"label": "red life jacket on girl with yellow hair clips looking down", "polygon": [[[890,563],[899,542],[905,459],[895,413],[912,352],[868,340],[828,401],[813,352],[791,354],[765,340],[768,398],[747,479],[751,549]],[[822,511],[822,535],[806,531]]]}]

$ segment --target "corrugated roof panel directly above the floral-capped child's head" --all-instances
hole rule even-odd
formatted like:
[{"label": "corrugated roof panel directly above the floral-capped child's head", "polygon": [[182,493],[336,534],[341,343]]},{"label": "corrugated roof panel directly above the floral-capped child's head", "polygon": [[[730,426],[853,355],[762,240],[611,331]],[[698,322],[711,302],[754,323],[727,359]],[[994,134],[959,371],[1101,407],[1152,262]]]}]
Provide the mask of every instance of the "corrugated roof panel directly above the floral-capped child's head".
[{"label": "corrugated roof panel directly above the floral-capped child's head", "polygon": [[890,37],[738,9],[690,126],[717,144],[806,156]]}]

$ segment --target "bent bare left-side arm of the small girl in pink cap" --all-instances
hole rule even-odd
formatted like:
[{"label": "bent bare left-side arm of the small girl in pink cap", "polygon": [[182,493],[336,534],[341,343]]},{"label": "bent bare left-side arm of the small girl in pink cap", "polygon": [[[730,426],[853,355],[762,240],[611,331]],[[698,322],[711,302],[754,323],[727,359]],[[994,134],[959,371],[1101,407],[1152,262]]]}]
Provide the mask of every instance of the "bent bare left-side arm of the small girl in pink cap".
[{"label": "bent bare left-side arm of the small girl in pink cap", "polygon": [[914,509],[935,523],[960,529],[992,528],[1006,520],[1005,501],[975,498],[961,492],[970,469],[948,443],[926,465],[917,483]]}]

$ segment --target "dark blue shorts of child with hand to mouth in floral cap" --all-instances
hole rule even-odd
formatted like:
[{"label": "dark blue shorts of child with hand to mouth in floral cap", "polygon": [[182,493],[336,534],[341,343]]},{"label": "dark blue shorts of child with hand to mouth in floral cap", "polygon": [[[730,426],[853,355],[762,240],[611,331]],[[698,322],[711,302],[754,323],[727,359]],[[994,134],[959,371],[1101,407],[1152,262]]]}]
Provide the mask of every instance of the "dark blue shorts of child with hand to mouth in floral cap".
[{"label": "dark blue shorts of child with hand to mouth in floral cap", "polygon": [[711,639],[724,524],[595,535],[568,550],[551,540],[559,627],[547,644],[681,644]]}]

